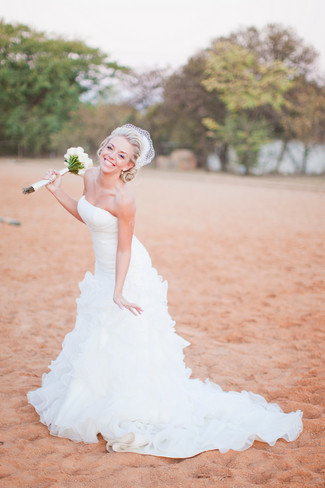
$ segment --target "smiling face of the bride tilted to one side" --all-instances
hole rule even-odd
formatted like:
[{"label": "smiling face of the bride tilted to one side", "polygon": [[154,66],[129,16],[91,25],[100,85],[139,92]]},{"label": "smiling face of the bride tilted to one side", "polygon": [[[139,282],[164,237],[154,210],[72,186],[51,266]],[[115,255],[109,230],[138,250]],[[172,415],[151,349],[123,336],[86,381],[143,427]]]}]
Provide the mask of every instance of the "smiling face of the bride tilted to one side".
[{"label": "smiling face of the bride tilted to one side", "polygon": [[104,173],[121,173],[134,163],[131,161],[134,148],[123,136],[114,136],[104,146],[100,154],[100,167]]}]

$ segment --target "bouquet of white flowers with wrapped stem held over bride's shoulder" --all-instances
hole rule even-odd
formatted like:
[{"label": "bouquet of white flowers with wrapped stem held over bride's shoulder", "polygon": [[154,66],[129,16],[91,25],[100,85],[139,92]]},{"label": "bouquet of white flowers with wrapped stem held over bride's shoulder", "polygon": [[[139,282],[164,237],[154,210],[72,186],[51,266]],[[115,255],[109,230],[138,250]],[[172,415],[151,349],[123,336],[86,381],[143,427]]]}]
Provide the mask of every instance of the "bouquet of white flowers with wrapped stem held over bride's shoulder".
[{"label": "bouquet of white flowers with wrapped stem held over bride's shoulder", "polygon": [[[86,169],[91,168],[93,165],[92,159],[89,158],[88,154],[85,153],[82,147],[70,147],[66,154],[64,155],[64,164],[67,166],[59,171],[60,175],[65,175],[66,173],[74,173],[75,175],[84,175]],[[33,183],[27,188],[23,188],[23,193],[33,193],[39,190],[43,186],[52,183],[55,178],[51,180],[40,180]]]}]

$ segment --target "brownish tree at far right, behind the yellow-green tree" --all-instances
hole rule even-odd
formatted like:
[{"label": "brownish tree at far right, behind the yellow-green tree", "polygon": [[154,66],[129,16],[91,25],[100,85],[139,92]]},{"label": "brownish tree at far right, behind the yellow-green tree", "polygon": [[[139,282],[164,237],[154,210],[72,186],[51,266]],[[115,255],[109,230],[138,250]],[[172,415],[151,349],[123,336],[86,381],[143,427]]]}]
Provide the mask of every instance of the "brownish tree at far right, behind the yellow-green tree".
[{"label": "brownish tree at far right, behind the yellow-green tree", "polygon": [[292,87],[284,95],[287,103],[280,111],[263,107],[262,113],[272,126],[273,135],[282,139],[275,172],[279,171],[290,140],[299,140],[305,145],[302,161],[294,161],[299,171],[304,172],[312,145],[324,142],[325,83],[319,76],[317,51],[292,28],[280,24],[269,24],[260,31],[249,27],[227,39],[255,53],[263,64],[281,61],[293,70]]}]

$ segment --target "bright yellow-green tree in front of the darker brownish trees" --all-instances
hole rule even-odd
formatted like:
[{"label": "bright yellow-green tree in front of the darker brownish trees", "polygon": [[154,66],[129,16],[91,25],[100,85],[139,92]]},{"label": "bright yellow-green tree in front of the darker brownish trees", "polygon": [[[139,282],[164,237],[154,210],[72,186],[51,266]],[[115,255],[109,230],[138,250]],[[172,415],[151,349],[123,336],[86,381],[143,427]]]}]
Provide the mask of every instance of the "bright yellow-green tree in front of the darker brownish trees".
[{"label": "bright yellow-green tree in front of the darker brownish trees", "polygon": [[261,145],[271,135],[261,109],[281,110],[294,71],[282,61],[262,63],[254,52],[232,41],[218,40],[207,57],[205,73],[203,86],[208,92],[217,93],[227,114],[224,124],[212,118],[204,118],[203,123],[210,133],[234,147],[248,174],[256,164]]}]

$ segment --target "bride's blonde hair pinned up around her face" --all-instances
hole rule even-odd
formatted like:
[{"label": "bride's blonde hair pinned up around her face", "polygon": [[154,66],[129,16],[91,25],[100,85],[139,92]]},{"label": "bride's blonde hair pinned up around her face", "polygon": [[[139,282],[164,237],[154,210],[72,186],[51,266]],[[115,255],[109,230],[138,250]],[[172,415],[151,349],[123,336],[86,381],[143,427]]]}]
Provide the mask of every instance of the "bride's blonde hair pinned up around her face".
[{"label": "bride's blonde hair pinned up around her face", "polygon": [[125,126],[117,127],[100,144],[98,151],[97,151],[98,157],[100,157],[102,150],[104,149],[106,144],[108,144],[109,141],[115,136],[125,137],[125,139],[133,146],[133,149],[134,149],[133,154],[131,156],[131,162],[134,163],[134,166],[132,166],[132,168],[121,173],[121,176],[120,176],[121,180],[124,183],[127,183],[128,181],[133,180],[133,178],[135,177],[135,175],[138,172],[138,170],[135,167],[135,163],[137,162],[137,159],[139,158],[141,151],[144,149],[142,138],[141,138],[141,135],[136,130],[134,130],[130,127],[125,127]]}]

